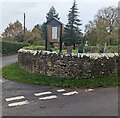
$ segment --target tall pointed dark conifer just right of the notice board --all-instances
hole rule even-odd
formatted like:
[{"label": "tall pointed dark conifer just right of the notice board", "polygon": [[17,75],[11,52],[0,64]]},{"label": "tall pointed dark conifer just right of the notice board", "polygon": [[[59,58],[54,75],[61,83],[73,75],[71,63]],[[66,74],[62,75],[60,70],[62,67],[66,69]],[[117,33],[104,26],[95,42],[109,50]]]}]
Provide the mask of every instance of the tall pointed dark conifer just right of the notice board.
[{"label": "tall pointed dark conifer just right of the notice board", "polygon": [[68,23],[65,27],[63,38],[66,46],[72,46],[75,49],[75,45],[78,42],[81,34],[79,26],[81,25],[81,20],[78,18],[78,9],[76,1],[74,1],[73,6],[70,8],[68,14]]}]

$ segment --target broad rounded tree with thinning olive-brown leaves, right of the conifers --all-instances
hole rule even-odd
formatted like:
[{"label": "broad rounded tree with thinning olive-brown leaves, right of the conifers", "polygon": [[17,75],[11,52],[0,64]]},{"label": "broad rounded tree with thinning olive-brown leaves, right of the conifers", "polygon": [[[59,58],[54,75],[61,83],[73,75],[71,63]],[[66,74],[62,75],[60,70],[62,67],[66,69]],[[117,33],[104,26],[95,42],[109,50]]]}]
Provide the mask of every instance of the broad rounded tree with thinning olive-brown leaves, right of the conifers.
[{"label": "broad rounded tree with thinning olive-brown leaves, right of the conifers", "polygon": [[[117,44],[118,40],[118,9],[107,7],[98,11],[92,24],[90,22],[86,25],[85,36],[89,42],[94,45],[97,44]],[[88,27],[89,26],[89,27]],[[93,34],[94,33],[94,34]],[[95,39],[96,37],[96,39]],[[92,42],[91,42],[92,40]]]}]

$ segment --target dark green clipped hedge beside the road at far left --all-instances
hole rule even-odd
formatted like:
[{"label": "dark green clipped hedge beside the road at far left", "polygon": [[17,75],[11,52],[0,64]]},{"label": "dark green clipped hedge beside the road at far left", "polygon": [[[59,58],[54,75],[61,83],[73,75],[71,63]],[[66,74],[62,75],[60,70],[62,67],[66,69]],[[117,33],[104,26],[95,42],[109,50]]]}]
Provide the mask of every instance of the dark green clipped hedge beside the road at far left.
[{"label": "dark green clipped hedge beside the road at far left", "polygon": [[20,48],[27,45],[25,43],[8,42],[8,41],[0,41],[0,43],[2,43],[2,48],[0,49],[0,52],[3,55],[15,54],[18,52]]}]

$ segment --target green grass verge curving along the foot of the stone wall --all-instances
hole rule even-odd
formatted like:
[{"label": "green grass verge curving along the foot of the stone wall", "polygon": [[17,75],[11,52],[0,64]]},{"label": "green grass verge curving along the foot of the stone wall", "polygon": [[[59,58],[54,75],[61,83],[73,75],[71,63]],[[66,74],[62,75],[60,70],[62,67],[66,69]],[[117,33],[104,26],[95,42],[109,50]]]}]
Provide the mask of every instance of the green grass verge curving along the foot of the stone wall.
[{"label": "green grass verge curving along the foot of the stone wall", "polygon": [[97,88],[97,87],[113,87],[120,85],[118,77],[104,77],[94,79],[66,79],[58,77],[49,77],[40,74],[25,72],[14,63],[2,68],[2,76],[9,80],[14,80],[27,84],[37,84],[56,87],[70,88]]}]

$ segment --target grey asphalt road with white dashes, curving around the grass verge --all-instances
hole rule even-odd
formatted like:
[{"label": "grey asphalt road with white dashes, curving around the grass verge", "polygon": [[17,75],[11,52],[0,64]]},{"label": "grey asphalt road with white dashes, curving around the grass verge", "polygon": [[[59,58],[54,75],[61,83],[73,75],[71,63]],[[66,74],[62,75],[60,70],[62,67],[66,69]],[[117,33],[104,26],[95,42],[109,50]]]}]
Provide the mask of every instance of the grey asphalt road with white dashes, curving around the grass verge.
[{"label": "grey asphalt road with white dashes, curving around the grass verge", "polygon": [[[5,57],[3,65],[16,61],[16,57]],[[3,80],[2,113],[3,116],[118,116],[118,88],[87,91]]]}]

